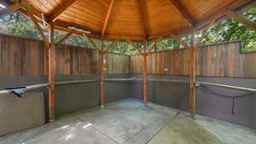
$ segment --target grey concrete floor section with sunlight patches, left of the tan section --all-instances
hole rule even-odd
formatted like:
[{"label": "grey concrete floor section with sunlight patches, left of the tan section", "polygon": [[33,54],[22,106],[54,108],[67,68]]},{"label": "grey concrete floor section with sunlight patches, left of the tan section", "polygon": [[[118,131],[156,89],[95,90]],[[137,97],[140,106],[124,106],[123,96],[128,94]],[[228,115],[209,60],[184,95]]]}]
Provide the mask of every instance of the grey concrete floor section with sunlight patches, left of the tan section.
[{"label": "grey concrete floor section with sunlight patches, left of the tan section", "polygon": [[146,143],[176,115],[177,111],[171,108],[154,104],[143,107],[142,101],[125,99],[0,137],[0,144]]}]

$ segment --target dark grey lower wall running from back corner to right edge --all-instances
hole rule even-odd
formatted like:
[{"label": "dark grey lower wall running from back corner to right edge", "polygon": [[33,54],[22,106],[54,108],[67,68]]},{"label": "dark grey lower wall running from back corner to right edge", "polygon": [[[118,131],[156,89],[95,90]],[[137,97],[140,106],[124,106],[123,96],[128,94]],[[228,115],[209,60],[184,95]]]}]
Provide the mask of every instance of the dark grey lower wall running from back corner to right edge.
[{"label": "dark grey lower wall running from back corner to right edge", "polygon": [[[142,74],[131,74],[131,77],[143,78]],[[186,76],[148,75],[148,78],[189,80]],[[256,78],[211,78],[198,77],[197,81],[215,84],[230,84],[256,89]],[[131,83],[132,96],[143,99],[143,83]],[[242,95],[247,92],[210,87],[225,95]],[[173,82],[148,82],[148,101],[156,104],[189,111],[189,84]],[[196,90],[196,113],[210,118],[217,118],[233,124],[241,124],[256,130],[256,95],[238,98],[235,114],[232,115],[232,99],[210,95]]]}]

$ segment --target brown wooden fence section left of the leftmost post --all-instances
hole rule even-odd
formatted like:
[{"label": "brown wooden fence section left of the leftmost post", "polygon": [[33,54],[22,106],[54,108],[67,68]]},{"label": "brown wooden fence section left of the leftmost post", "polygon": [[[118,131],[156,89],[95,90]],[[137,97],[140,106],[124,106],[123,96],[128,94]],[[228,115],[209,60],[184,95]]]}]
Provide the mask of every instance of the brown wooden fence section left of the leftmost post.
[{"label": "brown wooden fence section left of the leftmost post", "polygon": [[0,36],[0,75],[44,75],[44,43]]}]

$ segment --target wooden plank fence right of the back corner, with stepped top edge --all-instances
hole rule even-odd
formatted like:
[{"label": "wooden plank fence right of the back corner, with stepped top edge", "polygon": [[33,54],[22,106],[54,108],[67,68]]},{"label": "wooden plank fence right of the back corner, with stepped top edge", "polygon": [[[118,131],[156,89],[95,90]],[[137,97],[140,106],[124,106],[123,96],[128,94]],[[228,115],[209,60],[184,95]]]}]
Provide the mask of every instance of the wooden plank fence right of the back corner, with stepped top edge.
[{"label": "wooden plank fence right of the back corner, with stepped top edge", "polygon": [[[196,75],[256,78],[256,52],[241,53],[241,42],[202,46],[197,50]],[[131,73],[143,72],[143,56],[131,55]],[[189,75],[189,50],[148,55],[148,74]]]}]

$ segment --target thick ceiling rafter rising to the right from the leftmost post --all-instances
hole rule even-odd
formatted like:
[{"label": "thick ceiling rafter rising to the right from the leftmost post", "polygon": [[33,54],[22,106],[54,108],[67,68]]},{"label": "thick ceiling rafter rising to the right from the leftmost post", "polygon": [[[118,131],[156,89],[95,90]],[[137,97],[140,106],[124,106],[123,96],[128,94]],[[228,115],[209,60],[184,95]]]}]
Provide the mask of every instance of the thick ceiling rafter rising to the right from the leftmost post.
[{"label": "thick ceiling rafter rising to the right from the leftmost post", "polygon": [[63,3],[60,4],[59,8],[56,8],[50,15],[49,15],[49,21],[55,21],[58,19],[58,17],[66,10],[68,9],[73,3],[75,3],[77,0],[66,0]]}]

